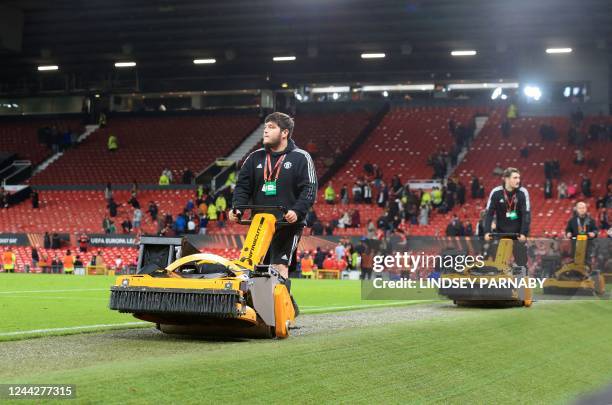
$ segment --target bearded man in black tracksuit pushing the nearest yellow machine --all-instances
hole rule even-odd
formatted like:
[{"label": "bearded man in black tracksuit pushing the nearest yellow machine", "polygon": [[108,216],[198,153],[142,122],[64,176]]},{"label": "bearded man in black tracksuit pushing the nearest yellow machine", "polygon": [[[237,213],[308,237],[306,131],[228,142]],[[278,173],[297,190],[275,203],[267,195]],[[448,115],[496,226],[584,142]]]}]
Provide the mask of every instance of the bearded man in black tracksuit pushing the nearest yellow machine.
[{"label": "bearded man in black tracksuit pushing the nearest yellow machine", "polygon": [[[305,226],[308,209],[317,195],[317,174],[312,158],[291,139],[294,122],[287,114],[275,112],[265,119],[263,145],[242,164],[232,207],[274,205],[288,209],[284,219],[291,225],[278,228],[270,244],[265,264],[274,265],[282,276],[289,276]],[[229,219],[241,213],[230,210]]]}]

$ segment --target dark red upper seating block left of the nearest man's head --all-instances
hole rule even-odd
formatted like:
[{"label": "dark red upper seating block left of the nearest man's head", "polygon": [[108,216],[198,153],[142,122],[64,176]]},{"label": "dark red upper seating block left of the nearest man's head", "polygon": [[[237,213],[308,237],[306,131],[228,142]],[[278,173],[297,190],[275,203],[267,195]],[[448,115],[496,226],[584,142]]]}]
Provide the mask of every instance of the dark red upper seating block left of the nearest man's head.
[{"label": "dark red upper seating block left of the nearest man's head", "polygon": [[[226,156],[258,125],[256,115],[111,117],[77,149],[32,179],[33,184],[157,183],[170,169],[180,179]],[[115,152],[108,137],[118,138]]]}]

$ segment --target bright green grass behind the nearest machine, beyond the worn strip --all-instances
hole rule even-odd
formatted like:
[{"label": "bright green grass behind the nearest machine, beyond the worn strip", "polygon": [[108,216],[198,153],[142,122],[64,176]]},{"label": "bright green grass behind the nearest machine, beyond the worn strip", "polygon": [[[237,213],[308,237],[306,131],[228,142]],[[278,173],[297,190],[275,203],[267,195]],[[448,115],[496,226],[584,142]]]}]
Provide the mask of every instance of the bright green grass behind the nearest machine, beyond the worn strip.
[{"label": "bright green grass behind the nearest machine, beyond the worn strip", "polygon": [[[104,276],[0,273],[0,341],[150,326],[146,323],[135,325],[138,320],[131,315],[108,309],[109,287],[114,280],[114,277]],[[411,303],[362,301],[360,283],[349,280],[294,280],[292,292],[302,313]],[[87,328],[48,331],[82,326]],[[37,330],[44,331],[7,335]]]}]

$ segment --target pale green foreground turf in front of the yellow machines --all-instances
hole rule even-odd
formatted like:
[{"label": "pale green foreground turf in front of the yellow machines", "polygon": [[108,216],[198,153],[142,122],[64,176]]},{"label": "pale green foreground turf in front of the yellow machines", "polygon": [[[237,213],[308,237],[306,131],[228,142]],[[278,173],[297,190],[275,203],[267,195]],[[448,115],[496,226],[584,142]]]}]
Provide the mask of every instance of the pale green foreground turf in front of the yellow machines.
[{"label": "pale green foreground turf in front of the yellow machines", "polygon": [[0,381],[76,384],[94,403],[566,403],[610,383],[609,301],[449,310],[287,340],[100,339],[9,361]]}]

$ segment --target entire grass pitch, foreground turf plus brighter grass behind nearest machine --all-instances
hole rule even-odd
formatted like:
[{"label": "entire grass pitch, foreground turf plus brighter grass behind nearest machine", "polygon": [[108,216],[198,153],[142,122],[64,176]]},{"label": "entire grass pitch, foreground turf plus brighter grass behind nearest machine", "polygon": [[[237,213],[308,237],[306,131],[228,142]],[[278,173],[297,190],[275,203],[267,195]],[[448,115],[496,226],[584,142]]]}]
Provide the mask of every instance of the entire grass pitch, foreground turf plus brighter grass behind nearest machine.
[{"label": "entire grass pitch, foreground turf plus brighter grass behind nearest machine", "polygon": [[[11,315],[0,333],[134,322],[107,310],[110,278],[2,276]],[[21,334],[0,343],[0,380],[74,384],[78,402],[231,403],[257,387],[268,403],[563,403],[612,375],[610,301],[405,306],[361,301],[358,282],[297,281],[305,314],[287,340],[167,336],[146,324]],[[380,305],[391,306],[364,309]]]}]

